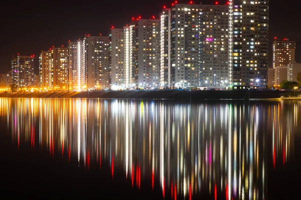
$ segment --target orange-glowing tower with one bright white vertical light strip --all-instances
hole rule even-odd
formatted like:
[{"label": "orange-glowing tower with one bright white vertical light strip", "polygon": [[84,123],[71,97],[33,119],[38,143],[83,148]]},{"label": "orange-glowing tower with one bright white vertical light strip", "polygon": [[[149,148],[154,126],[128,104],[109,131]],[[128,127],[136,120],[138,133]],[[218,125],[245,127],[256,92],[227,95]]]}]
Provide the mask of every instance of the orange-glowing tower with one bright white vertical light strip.
[{"label": "orange-glowing tower with one bright white vertical light strip", "polygon": [[84,89],[83,41],[69,41],[68,47],[69,90]]}]

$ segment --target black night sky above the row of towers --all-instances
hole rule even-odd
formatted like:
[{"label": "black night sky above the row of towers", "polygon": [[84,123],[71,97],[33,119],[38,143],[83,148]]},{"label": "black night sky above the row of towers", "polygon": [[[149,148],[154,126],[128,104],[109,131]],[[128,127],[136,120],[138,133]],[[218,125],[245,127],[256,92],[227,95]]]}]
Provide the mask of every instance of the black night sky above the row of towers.
[{"label": "black night sky above the row of towers", "polygon": [[[85,1],[5,1],[0,6],[0,73],[11,68],[11,59],[20,54],[35,54],[35,71],[41,50],[52,45],[65,46],[68,40],[82,38],[84,34],[106,35],[111,25],[122,27],[132,16],[159,17],[163,5],[174,0],[85,0]],[[197,0],[203,4],[216,0]],[[227,0],[219,0],[220,4]],[[46,4],[46,2],[49,2]],[[187,3],[188,0],[178,0]],[[274,36],[300,42],[301,20],[297,0],[270,0],[269,45]],[[301,47],[297,43],[296,61],[301,62]]]}]

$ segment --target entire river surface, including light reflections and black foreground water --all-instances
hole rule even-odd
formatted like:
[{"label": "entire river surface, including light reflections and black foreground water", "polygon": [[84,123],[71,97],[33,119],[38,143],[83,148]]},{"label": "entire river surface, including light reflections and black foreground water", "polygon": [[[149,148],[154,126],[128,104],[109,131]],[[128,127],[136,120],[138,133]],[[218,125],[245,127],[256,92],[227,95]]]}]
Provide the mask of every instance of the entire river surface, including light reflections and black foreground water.
[{"label": "entire river surface, including light reflections and black foreground water", "polygon": [[0,98],[0,190],[40,199],[300,199],[300,107]]}]

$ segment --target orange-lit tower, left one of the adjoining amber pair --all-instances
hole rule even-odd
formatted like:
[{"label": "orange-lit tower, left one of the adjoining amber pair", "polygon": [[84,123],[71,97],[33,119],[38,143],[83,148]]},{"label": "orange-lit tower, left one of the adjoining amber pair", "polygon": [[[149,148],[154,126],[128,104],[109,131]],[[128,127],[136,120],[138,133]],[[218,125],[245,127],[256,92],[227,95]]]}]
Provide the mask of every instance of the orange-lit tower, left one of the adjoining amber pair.
[{"label": "orange-lit tower, left one of the adjoining amber pair", "polygon": [[39,59],[39,85],[43,90],[53,89],[53,50],[42,51]]}]

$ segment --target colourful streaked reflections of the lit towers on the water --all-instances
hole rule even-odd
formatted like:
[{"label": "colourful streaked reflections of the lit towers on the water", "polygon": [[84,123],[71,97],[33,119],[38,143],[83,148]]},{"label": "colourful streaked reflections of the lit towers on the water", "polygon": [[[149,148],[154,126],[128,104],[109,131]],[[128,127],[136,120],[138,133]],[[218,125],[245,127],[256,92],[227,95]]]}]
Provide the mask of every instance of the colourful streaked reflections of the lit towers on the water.
[{"label": "colourful streaked reflections of the lit towers on the water", "polygon": [[285,165],[300,128],[297,101],[1,98],[0,104],[18,147],[39,145],[87,169],[106,161],[112,178],[115,169],[133,187],[160,183],[173,199],[262,199],[267,160],[273,168]]}]

